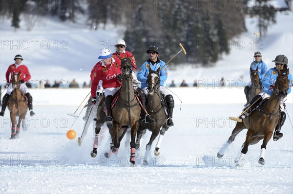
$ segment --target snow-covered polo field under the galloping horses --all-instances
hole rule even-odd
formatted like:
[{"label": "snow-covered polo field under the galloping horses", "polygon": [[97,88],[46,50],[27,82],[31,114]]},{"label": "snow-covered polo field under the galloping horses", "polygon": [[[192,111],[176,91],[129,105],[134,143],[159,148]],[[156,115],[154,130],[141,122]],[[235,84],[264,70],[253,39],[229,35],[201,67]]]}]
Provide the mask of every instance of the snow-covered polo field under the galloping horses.
[{"label": "snow-covered polo field under the galloping horses", "polygon": [[[216,154],[235,125],[228,117],[241,113],[245,101],[243,89],[176,88],[172,91],[183,103],[180,106],[175,98],[175,126],[164,136],[161,155],[153,155],[155,140],[149,165],[142,164],[150,137],[147,132],[142,148],[136,153],[137,166],[130,167],[129,144],[125,146],[125,139],[118,155],[106,159],[104,153],[109,149],[106,132],[105,138],[99,141],[98,155],[93,159],[90,157],[94,135],[91,126],[82,146],[78,146],[77,138],[66,138],[66,131],[75,120],[67,113],[76,110],[89,89],[31,90],[37,114],[33,118],[27,116],[28,130],[21,130],[19,139],[9,140],[8,111],[0,118],[1,194],[293,192],[293,131],[289,121],[293,119],[293,106],[289,100],[287,120],[282,128],[284,137],[269,142],[265,166],[257,164],[259,142],[249,147],[243,166],[235,168],[233,161],[245,141],[246,130],[236,137],[223,159],[217,159]],[[72,95],[77,92],[80,95]],[[40,98],[41,93],[45,99]],[[212,93],[219,98],[210,103],[203,101]],[[64,98],[55,98],[61,94]],[[51,97],[54,100],[47,101]],[[222,102],[223,99],[230,102]],[[288,99],[292,99],[292,94]],[[69,102],[75,102],[74,106]],[[71,127],[77,137],[84,129],[83,116],[84,110]]]}]

